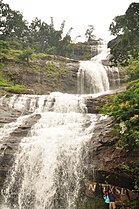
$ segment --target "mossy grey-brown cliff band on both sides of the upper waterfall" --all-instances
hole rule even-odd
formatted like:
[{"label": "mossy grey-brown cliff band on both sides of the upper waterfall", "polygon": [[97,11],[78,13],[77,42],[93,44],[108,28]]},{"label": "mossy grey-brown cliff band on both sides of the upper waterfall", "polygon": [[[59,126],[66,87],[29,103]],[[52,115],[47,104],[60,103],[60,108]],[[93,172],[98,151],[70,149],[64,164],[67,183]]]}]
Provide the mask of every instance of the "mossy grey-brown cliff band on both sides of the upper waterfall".
[{"label": "mossy grey-brown cliff band on both sides of the upper waterfall", "polygon": [[[80,62],[58,56],[42,56],[27,62],[19,62],[0,58],[0,76],[11,85],[24,85],[22,93],[48,94],[59,91],[63,93],[77,93],[77,72]],[[104,61],[104,60],[103,60]],[[110,67],[104,63],[110,88],[115,89],[121,82],[126,81],[124,69]],[[1,91],[8,87],[0,86]],[[0,92],[1,92],[0,91]]]}]

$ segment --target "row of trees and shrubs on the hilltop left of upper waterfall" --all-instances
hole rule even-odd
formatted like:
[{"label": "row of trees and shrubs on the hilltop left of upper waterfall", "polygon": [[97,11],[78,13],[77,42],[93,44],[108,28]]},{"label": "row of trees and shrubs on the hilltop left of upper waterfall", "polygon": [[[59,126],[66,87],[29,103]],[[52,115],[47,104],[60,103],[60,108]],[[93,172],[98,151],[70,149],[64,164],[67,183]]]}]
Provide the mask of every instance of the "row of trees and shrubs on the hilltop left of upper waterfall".
[{"label": "row of trees and shrubs on the hilltop left of upper waterfall", "polygon": [[61,23],[60,29],[56,30],[52,17],[50,25],[37,17],[29,24],[21,12],[12,10],[8,4],[3,3],[3,0],[0,1],[0,8],[1,55],[7,50],[14,49],[26,51],[24,58],[27,61],[31,50],[35,53],[89,59],[92,56],[90,44],[98,43],[93,35],[93,26],[88,26],[86,30],[86,42],[76,44],[70,35],[72,27],[65,34],[65,21]]}]

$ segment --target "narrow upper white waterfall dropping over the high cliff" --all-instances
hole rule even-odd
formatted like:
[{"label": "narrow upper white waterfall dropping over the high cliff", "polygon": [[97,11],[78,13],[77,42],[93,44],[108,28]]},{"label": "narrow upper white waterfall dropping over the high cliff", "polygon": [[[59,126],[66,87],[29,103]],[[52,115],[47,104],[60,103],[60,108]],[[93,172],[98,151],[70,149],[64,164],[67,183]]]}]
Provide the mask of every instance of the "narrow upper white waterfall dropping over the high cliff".
[{"label": "narrow upper white waterfall dropping over the high cliff", "polygon": [[[105,92],[112,87],[119,87],[119,71],[118,68],[103,65],[103,61],[108,60],[110,54],[106,43],[101,43],[98,49],[98,55],[93,57],[90,61],[80,61],[78,71],[78,93],[79,94],[93,94],[98,92]],[[115,76],[110,80],[111,75]],[[118,82],[117,82],[118,81]],[[112,83],[112,84],[111,84]],[[114,86],[115,84],[115,86]]]}]

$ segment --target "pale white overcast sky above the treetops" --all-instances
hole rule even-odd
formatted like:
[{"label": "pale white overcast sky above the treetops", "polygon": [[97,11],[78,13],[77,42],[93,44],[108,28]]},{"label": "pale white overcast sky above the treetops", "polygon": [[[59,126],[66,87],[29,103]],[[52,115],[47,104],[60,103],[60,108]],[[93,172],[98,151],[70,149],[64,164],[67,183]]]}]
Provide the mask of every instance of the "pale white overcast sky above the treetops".
[{"label": "pale white overcast sky above the treetops", "polygon": [[106,41],[110,40],[109,25],[113,18],[122,15],[132,2],[139,0],[3,0],[11,9],[23,13],[31,22],[35,17],[50,24],[54,19],[56,29],[65,20],[65,33],[72,27],[72,39],[84,37],[88,25],[94,25],[94,34]]}]

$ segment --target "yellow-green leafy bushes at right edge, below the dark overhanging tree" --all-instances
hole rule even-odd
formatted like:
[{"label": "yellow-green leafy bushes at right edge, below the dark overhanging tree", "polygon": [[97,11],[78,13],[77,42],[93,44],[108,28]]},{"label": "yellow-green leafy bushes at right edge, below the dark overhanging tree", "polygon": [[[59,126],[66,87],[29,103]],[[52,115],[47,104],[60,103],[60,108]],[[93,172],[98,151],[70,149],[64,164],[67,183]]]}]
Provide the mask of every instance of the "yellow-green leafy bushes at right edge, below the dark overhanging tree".
[{"label": "yellow-green leafy bushes at right edge, below the dark overhanging tree", "polygon": [[[101,113],[113,116],[113,133],[118,137],[116,149],[125,155],[139,151],[139,79],[131,81],[127,90],[119,93],[104,105]],[[139,190],[139,162],[123,163],[121,170],[134,178],[135,190]]]}]

